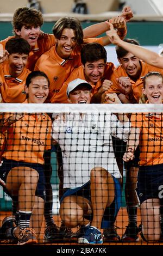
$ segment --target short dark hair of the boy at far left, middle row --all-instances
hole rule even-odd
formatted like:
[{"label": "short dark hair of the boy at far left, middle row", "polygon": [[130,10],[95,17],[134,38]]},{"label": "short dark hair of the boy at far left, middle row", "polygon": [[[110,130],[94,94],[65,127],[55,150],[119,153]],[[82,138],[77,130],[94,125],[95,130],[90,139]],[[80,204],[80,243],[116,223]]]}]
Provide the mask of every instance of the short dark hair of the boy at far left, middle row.
[{"label": "short dark hair of the boy at far left, middle row", "polygon": [[9,54],[19,53],[19,54],[28,54],[30,52],[30,45],[27,40],[23,38],[11,38],[5,44],[5,49]]}]

